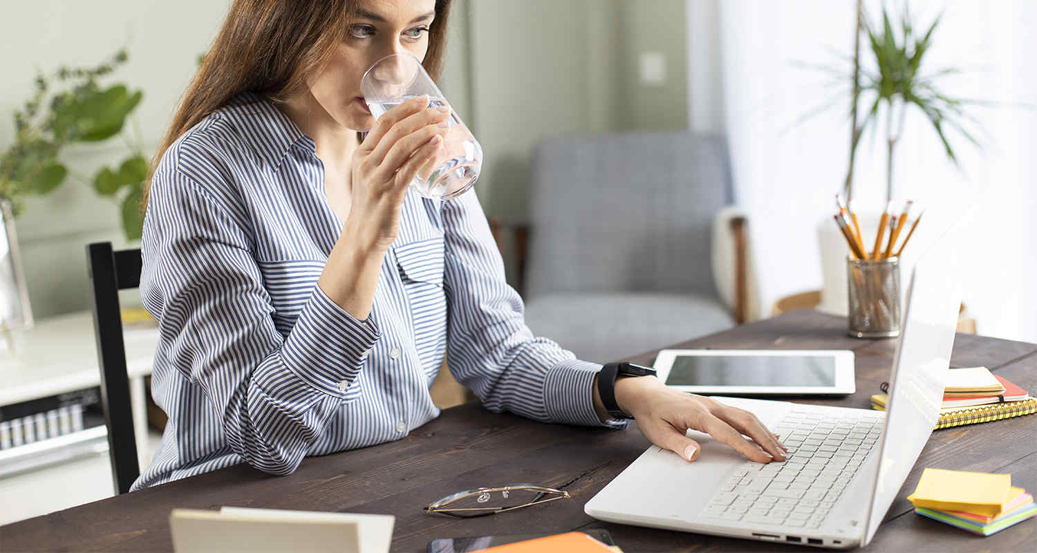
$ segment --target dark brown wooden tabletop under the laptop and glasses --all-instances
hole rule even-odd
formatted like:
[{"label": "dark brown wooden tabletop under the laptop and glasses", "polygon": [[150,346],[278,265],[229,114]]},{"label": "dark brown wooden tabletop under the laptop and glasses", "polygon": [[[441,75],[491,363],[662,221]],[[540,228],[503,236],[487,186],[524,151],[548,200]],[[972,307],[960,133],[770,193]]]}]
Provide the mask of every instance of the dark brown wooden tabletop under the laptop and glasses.
[{"label": "dark brown wooden tabletop under the laptop and glasses", "polygon": [[[712,349],[849,349],[857,357],[857,393],[805,403],[869,407],[889,376],[895,340],[846,336],[843,317],[798,310],[675,344]],[[627,360],[651,364],[654,352]],[[1037,389],[1037,344],[958,334],[952,366],[985,365],[1028,390]],[[905,499],[923,467],[1008,472],[1014,486],[1037,492],[1037,415],[936,431],[886,516],[869,551],[1035,551],[1037,520],[980,537],[912,513]],[[803,551],[795,546],[602,523],[584,503],[649,445],[625,432],[542,424],[494,414],[477,404],[445,410],[407,438],[364,449],[308,458],[288,476],[248,465],[29,519],[0,528],[2,551],[171,551],[173,507],[221,505],[389,514],[392,550],[424,552],[435,537],[563,532],[604,527],[628,553],[641,551]],[[538,482],[572,499],[480,519],[426,515],[422,507],[479,486]],[[3,508],[0,506],[0,508]]]}]

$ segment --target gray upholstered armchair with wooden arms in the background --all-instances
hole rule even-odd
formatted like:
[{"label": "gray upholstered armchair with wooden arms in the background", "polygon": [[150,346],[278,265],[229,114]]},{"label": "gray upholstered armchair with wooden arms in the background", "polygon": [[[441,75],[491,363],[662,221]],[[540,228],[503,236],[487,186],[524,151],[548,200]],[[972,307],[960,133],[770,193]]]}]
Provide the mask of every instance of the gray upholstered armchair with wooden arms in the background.
[{"label": "gray upholstered armchair with wooden arms in the background", "polygon": [[[551,137],[533,153],[529,194],[531,225],[492,218],[491,227],[502,251],[504,229],[514,231],[535,335],[607,362],[746,320],[745,218],[725,210],[733,193],[722,139]],[[730,232],[730,254],[712,252],[718,228]],[[718,271],[720,258],[733,262]]]}]

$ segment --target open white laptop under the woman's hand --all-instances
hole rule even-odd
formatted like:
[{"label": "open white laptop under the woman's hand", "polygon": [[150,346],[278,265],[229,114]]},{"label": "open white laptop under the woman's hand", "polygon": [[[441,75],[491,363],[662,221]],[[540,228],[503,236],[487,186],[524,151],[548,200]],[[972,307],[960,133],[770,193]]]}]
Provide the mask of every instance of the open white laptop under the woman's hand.
[{"label": "open white laptop under the woman's hand", "polygon": [[868,545],[940,414],[961,298],[951,234],[912,272],[887,411],[713,396],[755,413],[789,446],[789,459],[754,463],[689,431],[702,446],[697,461],[652,446],[584,511],[608,522],[767,542]]}]

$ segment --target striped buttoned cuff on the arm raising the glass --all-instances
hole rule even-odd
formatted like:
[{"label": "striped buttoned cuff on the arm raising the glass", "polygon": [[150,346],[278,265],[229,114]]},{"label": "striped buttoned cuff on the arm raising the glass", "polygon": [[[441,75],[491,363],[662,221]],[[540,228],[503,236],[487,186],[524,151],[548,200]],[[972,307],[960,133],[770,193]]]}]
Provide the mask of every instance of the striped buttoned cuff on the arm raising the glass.
[{"label": "striped buttoned cuff on the arm raising the glass", "polygon": [[303,382],[348,398],[367,354],[382,336],[374,306],[359,321],[313,286],[306,307],[281,348],[284,364]]}]

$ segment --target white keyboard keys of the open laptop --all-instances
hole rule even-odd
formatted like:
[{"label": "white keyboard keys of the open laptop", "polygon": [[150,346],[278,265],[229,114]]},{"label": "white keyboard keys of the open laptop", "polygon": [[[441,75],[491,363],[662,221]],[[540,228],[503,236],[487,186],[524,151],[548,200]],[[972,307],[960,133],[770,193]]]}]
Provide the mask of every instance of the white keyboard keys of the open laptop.
[{"label": "white keyboard keys of the open laptop", "polygon": [[882,415],[792,410],[774,432],[787,461],[747,461],[721,487],[703,517],[817,528],[878,441]]}]

